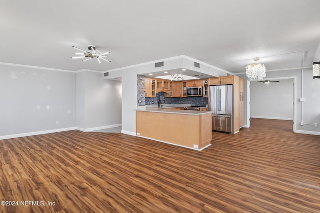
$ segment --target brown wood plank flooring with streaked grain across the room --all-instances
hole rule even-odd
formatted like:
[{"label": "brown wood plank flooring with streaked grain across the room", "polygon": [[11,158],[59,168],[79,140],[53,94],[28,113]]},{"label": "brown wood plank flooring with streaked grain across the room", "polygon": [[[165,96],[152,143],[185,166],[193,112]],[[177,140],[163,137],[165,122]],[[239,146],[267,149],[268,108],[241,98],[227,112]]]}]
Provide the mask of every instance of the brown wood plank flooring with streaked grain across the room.
[{"label": "brown wood plank flooring with streaked grain across the room", "polygon": [[235,135],[213,132],[211,144],[80,131],[0,140],[0,199],[18,202],[0,211],[320,212],[320,136],[251,119]]}]

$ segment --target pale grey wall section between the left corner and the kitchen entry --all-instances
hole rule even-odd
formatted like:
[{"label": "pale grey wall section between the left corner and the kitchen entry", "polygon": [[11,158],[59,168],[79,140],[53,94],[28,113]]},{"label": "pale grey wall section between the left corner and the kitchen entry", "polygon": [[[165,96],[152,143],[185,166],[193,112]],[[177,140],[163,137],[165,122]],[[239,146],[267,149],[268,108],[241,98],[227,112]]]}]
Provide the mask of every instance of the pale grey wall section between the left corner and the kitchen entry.
[{"label": "pale grey wall section between the left corner and the kitchen entry", "polygon": [[120,126],[121,82],[90,71],[78,72],[76,79],[76,126],[84,131]]}]

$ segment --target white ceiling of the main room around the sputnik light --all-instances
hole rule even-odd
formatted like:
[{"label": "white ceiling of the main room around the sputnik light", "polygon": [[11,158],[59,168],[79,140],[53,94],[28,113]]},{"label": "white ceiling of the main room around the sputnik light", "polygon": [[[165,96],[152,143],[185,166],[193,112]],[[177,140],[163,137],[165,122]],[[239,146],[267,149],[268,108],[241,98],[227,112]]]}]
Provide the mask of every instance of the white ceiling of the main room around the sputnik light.
[{"label": "white ceiling of the main room around the sputnik light", "polygon": [[0,62],[117,68],[70,58],[72,45],[92,44],[120,67],[177,55],[232,73],[243,73],[254,57],[267,70],[310,67],[319,8],[320,0],[1,0]]}]

